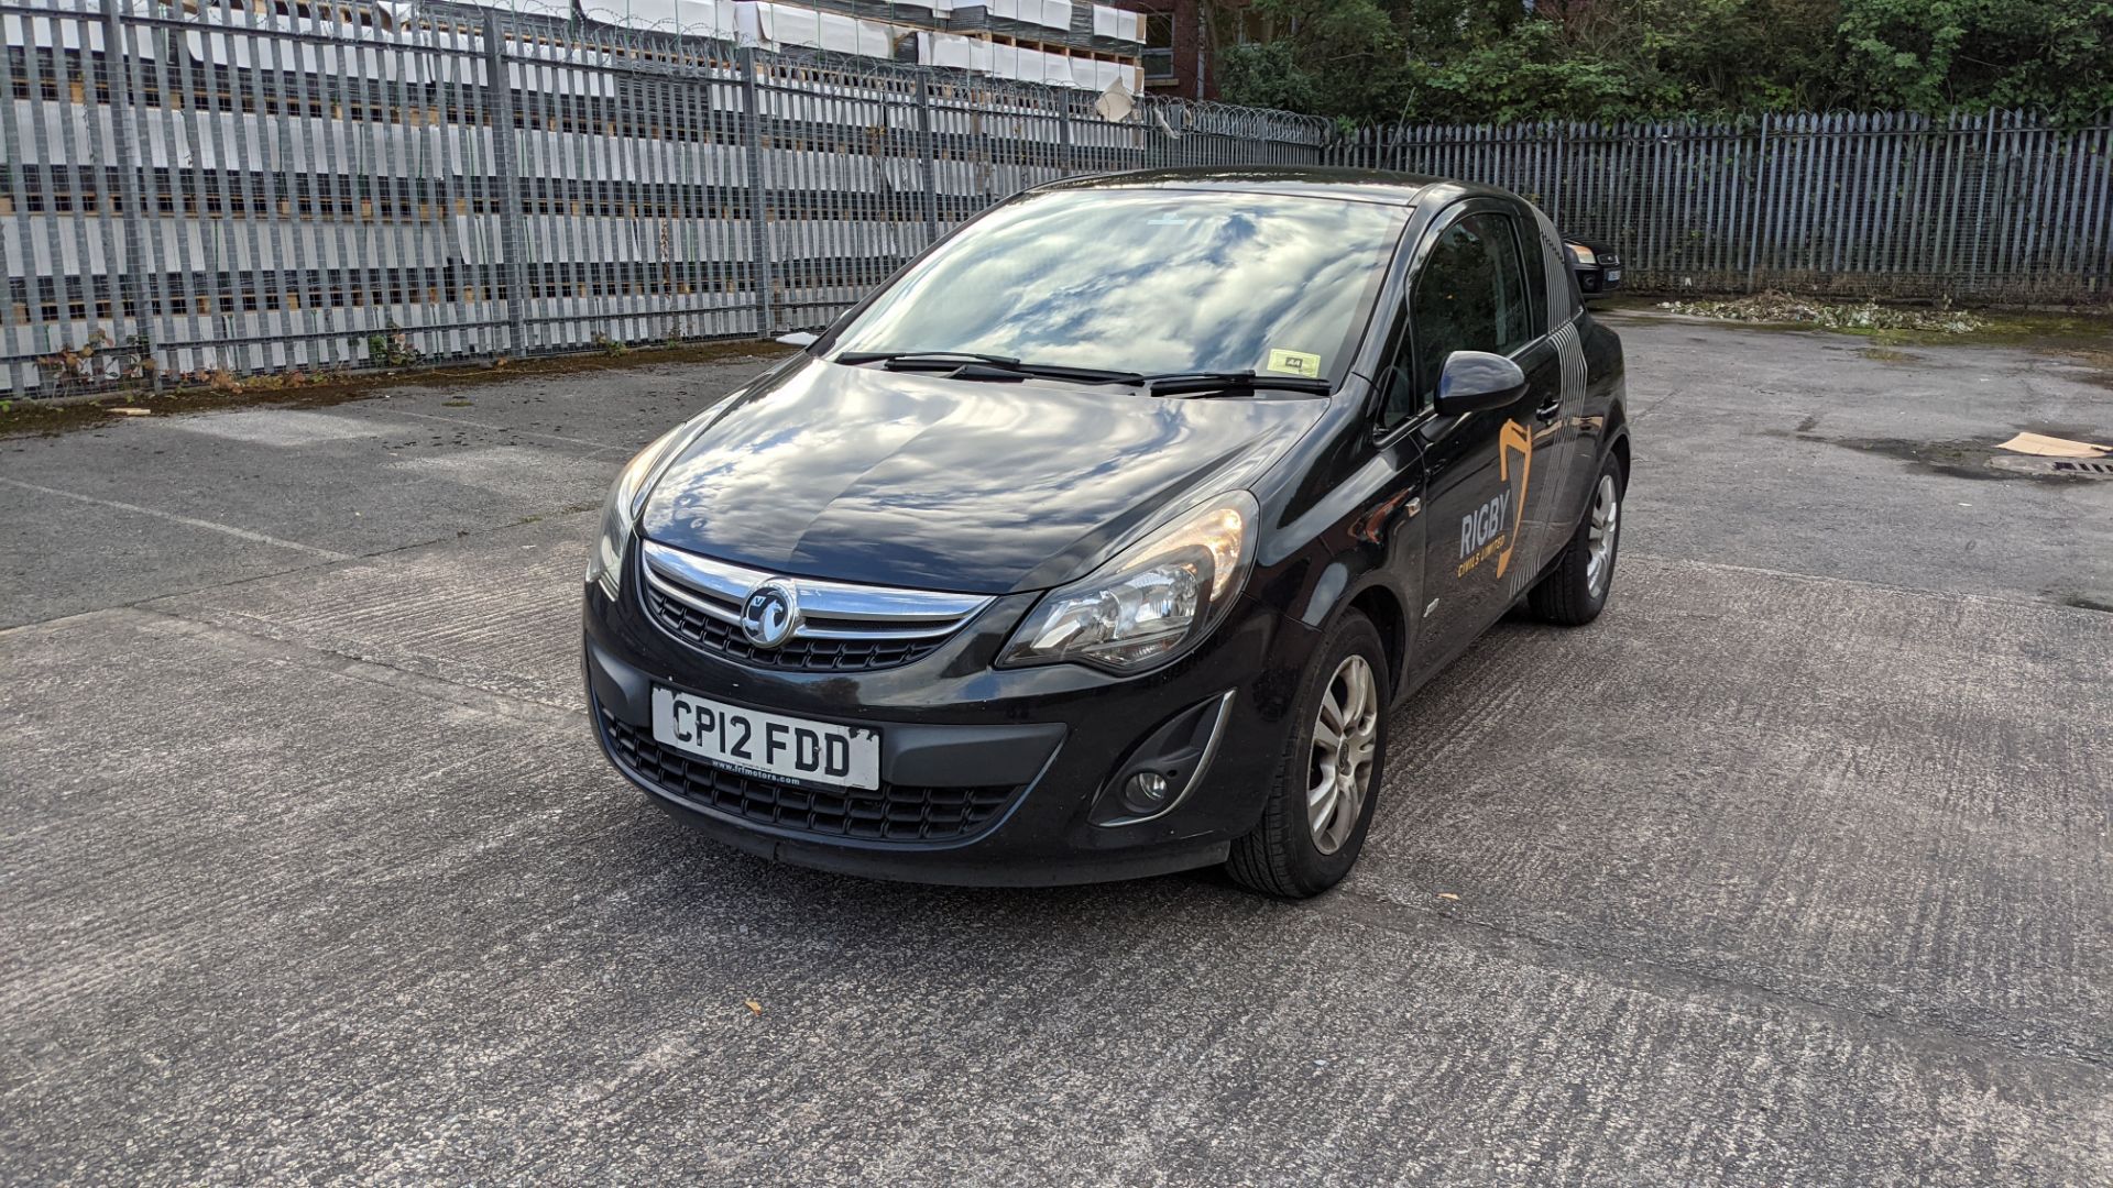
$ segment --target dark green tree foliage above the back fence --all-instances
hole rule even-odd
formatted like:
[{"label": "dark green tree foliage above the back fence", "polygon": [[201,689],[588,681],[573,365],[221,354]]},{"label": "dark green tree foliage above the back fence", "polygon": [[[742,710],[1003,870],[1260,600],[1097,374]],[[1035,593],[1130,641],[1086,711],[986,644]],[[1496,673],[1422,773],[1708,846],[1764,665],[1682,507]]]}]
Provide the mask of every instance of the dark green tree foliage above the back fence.
[{"label": "dark green tree foliage above the back fence", "polygon": [[[1255,0],[1223,95],[1348,120],[2113,108],[2113,0]],[[1232,21],[1215,21],[1230,30]]]}]

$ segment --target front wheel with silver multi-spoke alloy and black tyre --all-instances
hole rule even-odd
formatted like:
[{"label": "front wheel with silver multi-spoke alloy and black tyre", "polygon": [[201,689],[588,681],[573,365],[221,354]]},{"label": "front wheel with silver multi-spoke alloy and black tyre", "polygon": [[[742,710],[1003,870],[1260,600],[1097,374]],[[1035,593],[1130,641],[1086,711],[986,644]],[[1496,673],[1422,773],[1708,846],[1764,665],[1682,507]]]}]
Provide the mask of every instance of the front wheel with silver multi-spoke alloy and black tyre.
[{"label": "front wheel with silver multi-spoke alloy and black tyre", "polygon": [[1226,858],[1234,881],[1308,898],[1350,873],[1386,765],[1386,691],[1380,632],[1365,615],[1344,613],[1321,638],[1299,687],[1261,824]]}]

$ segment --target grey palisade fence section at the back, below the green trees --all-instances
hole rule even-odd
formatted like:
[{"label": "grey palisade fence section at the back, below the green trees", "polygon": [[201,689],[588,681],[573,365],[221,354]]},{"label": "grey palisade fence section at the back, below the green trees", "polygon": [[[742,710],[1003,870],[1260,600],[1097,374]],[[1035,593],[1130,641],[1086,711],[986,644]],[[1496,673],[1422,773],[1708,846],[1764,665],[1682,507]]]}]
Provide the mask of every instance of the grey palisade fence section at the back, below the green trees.
[{"label": "grey palisade fence section at the back, below the green trees", "polygon": [[2113,127],[2024,112],[1363,129],[1333,161],[1517,190],[1652,292],[2105,302]]}]

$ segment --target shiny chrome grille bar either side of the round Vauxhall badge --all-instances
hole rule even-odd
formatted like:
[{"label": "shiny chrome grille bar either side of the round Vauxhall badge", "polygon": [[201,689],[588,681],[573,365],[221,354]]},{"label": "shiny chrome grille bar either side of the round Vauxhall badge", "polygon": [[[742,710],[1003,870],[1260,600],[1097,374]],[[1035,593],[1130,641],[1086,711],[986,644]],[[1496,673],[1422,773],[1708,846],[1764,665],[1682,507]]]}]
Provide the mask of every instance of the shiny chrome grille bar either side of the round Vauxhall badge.
[{"label": "shiny chrome grille bar either side of the round Vauxhall badge", "polygon": [[740,624],[748,594],[773,579],[799,592],[797,641],[930,641],[949,636],[995,602],[991,594],[942,590],[900,590],[856,586],[816,577],[790,577],[682,552],[657,541],[640,541],[638,556],[653,590],[723,624]]}]

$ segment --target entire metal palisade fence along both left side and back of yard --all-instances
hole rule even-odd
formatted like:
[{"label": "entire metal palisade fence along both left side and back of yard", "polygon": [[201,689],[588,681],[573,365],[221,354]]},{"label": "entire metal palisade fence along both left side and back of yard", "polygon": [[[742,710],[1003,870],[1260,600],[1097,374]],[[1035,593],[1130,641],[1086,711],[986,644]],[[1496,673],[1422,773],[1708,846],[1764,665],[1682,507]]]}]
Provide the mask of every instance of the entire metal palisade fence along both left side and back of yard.
[{"label": "entire metal palisade fence along both left side and back of yard", "polygon": [[2102,123],[1342,137],[562,8],[0,0],[0,366],[32,395],[814,326],[1021,188],[1173,165],[1504,184],[1614,243],[1631,285],[2109,285]]}]

